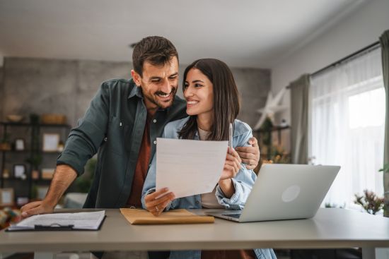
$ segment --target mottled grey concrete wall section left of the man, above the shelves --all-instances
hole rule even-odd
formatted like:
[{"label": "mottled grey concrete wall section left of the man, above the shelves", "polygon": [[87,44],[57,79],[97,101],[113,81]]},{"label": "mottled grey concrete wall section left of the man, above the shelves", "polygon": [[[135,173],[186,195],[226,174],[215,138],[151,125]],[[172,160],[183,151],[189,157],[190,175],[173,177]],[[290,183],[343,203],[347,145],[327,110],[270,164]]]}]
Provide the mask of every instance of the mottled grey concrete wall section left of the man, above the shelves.
[{"label": "mottled grey concrete wall section left of the man, above the shelves", "polygon": [[128,78],[127,63],[6,58],[6,114],[60,113],[75,125],[103,80]]}]

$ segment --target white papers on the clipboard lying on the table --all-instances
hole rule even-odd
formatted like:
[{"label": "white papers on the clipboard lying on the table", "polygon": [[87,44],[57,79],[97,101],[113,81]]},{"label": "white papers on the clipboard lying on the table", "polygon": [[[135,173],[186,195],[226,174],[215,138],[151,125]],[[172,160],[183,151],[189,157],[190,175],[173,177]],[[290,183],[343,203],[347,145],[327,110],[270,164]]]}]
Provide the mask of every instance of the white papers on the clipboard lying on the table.
[{"label": "white papers on the clipboard lying on the table", "polygon": [[98,212],[41,214],[23,219],[8,227],[8,231],[28,229],[85,229],[97,230],[105,217],[105,210]]}]

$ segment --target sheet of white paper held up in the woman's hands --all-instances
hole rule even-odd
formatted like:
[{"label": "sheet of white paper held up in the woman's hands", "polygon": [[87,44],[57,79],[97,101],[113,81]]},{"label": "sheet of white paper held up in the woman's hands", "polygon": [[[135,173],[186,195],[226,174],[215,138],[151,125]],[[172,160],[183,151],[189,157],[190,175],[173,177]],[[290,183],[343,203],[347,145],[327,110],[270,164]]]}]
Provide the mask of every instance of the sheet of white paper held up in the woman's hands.
[{"label": "sheet of white paper held up in the woman's hands", "polygon": [[156,189],[175,198],[214,190],[226,161],[228,141],[157,138]]}]

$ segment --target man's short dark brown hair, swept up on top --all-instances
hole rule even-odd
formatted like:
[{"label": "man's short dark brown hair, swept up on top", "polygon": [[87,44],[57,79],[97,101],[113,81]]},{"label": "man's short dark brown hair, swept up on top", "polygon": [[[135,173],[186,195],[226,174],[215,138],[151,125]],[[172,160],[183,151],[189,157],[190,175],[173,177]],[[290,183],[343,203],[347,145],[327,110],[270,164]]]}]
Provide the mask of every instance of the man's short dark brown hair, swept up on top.
[{"label": "man's short dark brown hair, swept up on top", "polygon": [[138,42],[132,52],[134,71],[143,76],[144,61],[153,66],[164,66],[170,63],[170,59],[177,57],[177,49],[170,40],[161,36],[149,36]]}]

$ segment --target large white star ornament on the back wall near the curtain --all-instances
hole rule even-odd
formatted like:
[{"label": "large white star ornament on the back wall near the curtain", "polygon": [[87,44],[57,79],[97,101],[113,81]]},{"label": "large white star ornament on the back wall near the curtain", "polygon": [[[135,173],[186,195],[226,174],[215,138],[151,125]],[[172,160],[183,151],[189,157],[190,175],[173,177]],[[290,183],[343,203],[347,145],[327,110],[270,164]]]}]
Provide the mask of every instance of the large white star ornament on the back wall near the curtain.
[{"label": "large white star ornament on the back wall near the curtain", "polygon": [[282,97],[284,97],[286,90],[287,90],[286,87],[282,88],[275,97],[273,97],[272,91],[269,91],[269,95],[267,95],[265,107],[257,110],[257,112],[260,113],[261,116],[260,116],[260,120],[254,126],[254,131],[260,129],[267,116],[273,121],[274,114],[283,111],[284,109],[287,108],[286,105],[279,105],[279,102],[281,102]]}]

